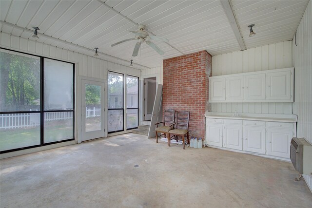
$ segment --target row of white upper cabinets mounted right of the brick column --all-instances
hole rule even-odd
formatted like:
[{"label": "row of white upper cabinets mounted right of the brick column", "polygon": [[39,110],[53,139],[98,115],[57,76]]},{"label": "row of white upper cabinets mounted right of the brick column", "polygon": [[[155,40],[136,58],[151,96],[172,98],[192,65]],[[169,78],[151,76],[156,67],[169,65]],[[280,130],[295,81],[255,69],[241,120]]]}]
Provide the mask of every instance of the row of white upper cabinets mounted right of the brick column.
[{"label": "row of white upper cabinets mounted right of the brick column", "polygon": [[293,68],[209,77],[209,102],[293,102]]}]

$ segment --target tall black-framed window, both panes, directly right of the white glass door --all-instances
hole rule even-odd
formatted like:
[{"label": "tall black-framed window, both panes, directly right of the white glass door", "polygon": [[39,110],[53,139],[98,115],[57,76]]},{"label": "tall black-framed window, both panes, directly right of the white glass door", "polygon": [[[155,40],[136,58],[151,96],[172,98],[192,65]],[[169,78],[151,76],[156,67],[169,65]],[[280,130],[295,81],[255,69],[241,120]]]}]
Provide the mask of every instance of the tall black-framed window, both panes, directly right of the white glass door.
[{"label": "tall black-framed window, both panes, directly right of the white glass door", "polygon": [[123,75],[108,72],[107,85],[108,132],[120,132],[123,131]]}]

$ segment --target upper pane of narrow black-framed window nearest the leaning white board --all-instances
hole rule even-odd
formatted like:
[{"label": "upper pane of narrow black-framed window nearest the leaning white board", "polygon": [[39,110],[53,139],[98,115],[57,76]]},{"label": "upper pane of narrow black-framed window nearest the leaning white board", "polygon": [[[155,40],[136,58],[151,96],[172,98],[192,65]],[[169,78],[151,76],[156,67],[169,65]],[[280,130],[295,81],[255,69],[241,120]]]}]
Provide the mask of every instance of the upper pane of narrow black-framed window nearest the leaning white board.
[{"label": "upper pane of narrow black-framed window nearest the leaning white board", "polygon": [[127,76],[127,108],[138,107],[138,78]]}]

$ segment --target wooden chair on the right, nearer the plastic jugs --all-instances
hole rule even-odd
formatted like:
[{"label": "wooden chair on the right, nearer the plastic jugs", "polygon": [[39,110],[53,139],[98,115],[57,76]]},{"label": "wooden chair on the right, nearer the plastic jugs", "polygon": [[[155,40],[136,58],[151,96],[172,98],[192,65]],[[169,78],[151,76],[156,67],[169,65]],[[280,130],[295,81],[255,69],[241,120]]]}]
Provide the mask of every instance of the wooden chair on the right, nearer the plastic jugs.
[{"label": "wooden chair on the right, nearer the plastic jugs", "polygon": [[[176,129],[169,131],[169,138],[171,134],[174,135],[173,139],[182,140],[183,143],[183,150],[185,149],[185,140],[184,136],[187,137],[187,143],[190,144],[190,137],[189,137],[189,122],[190,122],[190,112],[189,111],[178,111],[176,117]],[[182,139],[178,137],[181,136]],[[168,142],[170,147],[170,139]]]}]

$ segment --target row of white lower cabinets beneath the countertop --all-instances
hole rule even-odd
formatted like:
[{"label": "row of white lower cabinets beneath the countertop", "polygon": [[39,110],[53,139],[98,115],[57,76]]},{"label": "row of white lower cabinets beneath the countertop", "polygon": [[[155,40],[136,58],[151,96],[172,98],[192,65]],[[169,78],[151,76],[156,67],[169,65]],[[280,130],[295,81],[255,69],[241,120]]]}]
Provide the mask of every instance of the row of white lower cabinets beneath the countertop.
[{"label": "row of white lower cabinets beneath the countertop", "polygon": [[207,145],[290,158],[293,123],[206,119]]}]

